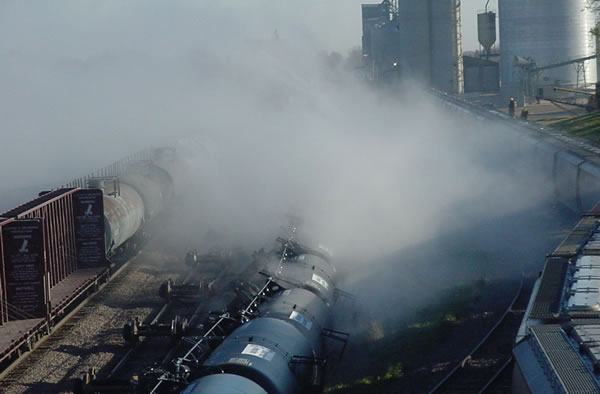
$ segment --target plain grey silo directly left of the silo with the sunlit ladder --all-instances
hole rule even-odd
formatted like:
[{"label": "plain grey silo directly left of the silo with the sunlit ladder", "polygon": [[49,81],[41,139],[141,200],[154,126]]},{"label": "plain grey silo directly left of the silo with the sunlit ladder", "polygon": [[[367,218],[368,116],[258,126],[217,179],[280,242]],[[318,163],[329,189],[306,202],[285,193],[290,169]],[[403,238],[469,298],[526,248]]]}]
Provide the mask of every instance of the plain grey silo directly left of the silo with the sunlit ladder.
[{"label": "plain grey silo directly left of the silo with the sunlit ladder", "polygon": [[431,82],[431,42],[428,0],[398,0],[400,67],[403,75]]}]

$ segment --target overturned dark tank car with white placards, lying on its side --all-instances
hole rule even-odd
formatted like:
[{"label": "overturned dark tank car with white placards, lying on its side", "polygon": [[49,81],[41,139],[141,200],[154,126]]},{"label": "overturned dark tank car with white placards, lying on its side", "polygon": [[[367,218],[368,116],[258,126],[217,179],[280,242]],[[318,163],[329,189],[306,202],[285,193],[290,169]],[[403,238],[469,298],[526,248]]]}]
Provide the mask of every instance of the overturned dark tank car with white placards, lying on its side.
[{"label": "overturned dark tank car with white placards, lying on its side", "polygon": [[[262,288],[242,306],[235,304],[206,324],[204,335],[172,360],[170,371],[165,368],[156,378],[157,369],[152,368],[142,376],[142,381],[150,377],[156,382],[144,382],[149,392],[323,390],[327,360],[336,349],[330,340],[343,343],[343,352],[348,339],[348,334],[328,327],[339,298],[351,295],[336,289],[336,270],[326,252],[291,238],[278,241],[281,246],[274,251],[255,254],[268,277]],[[215,343],[216,332],[228,335]]]}]

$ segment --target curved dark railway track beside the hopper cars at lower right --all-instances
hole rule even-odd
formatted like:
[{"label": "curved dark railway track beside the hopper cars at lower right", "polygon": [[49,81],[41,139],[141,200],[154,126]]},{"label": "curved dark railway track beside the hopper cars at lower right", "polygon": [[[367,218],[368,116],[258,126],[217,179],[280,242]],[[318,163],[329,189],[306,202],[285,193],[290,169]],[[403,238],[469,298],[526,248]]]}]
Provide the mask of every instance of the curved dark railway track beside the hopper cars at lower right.
[{"label": "curved dark railway track beside the hopper cars at lower right", "polygon": [[512,348],[531,293],[521,278],[515,296],[488,334],[429,393],[510,392]]}]

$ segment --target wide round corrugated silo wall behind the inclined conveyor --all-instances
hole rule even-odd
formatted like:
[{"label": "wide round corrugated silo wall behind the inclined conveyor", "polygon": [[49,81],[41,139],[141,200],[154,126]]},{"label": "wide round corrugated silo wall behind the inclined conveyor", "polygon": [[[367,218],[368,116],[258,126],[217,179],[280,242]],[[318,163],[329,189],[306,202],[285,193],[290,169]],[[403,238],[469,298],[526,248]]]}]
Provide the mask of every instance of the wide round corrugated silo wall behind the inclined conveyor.
[{"label": "wide round corrugated silo wall behind the inclined conveyor", "polygon": [[[595,17],[586,5],[586,0],[499,0],[503,96],[518,93],[515,56],[531,57],[544,66],[594,54],[595,40],[589,31]],[[587,83],[596,82],[595,63],[585,63]],[[545,70],[543,77],[548,84],[574,86],[577,66]]]}]

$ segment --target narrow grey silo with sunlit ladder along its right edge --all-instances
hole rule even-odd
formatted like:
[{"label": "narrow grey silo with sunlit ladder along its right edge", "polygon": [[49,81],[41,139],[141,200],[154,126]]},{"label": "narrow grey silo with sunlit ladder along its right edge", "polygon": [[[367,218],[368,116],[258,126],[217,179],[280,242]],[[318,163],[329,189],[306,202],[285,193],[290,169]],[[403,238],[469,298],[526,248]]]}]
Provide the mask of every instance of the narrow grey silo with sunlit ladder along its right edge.
[{"label": "narrow grey silo with sunlit ladder along its right edge", "polygon": [[431,0],[432,85],[448,93],[464,90],[460,0]]}]

